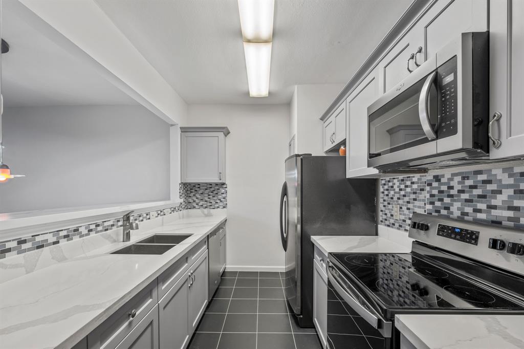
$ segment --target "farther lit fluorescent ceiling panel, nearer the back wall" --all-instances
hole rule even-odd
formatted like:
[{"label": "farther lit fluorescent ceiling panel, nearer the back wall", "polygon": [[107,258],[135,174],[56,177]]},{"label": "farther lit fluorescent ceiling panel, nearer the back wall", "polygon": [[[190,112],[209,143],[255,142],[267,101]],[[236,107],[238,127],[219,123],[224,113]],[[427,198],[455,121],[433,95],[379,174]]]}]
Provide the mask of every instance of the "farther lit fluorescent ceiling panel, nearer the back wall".
[{"label": "farther lit fluorescent ceiling panel, nearer the back wall", "polygon": [[269,95],[271,45],[271,42],[244,42],[250,97],[267,97]]}]

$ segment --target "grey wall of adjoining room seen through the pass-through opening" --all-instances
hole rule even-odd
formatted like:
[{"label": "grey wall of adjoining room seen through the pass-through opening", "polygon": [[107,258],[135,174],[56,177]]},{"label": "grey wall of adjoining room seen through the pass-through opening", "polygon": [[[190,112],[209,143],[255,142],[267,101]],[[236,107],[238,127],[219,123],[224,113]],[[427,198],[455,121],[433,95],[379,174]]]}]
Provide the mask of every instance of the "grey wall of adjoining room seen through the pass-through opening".
[{"label": "grey wall of adjoining room seen through the pass-through opening", "polygon": [[170,127],[141,105],[6,108],[3,119],[5,163],[27,177],[0,186],[2,213],[169,200]]}]

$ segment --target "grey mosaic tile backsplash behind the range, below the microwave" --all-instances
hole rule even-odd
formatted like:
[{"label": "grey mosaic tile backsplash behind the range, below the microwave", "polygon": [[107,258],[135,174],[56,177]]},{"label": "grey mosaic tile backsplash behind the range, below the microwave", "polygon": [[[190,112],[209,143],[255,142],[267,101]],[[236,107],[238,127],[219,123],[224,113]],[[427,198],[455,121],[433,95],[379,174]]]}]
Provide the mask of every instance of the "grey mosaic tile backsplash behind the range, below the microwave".
[{"label": "grey mosaic tile backsplash behind the range, below the microwave", "polygon": [[380,224],[407,232],[413,212],[524,230],[524,165],[381,179]]}]

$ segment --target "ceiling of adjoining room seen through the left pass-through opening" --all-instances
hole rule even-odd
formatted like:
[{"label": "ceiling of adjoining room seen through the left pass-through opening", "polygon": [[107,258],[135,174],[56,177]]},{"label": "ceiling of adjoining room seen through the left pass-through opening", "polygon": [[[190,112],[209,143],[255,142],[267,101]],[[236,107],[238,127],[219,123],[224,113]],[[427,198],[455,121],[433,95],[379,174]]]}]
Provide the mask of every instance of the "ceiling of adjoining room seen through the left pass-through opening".
[{"label": "ceiling of adjoining room seen through the left pass-through opening", "polygon": [[138,104],[92,68],[2,8],[2,94],[6,107]]}]

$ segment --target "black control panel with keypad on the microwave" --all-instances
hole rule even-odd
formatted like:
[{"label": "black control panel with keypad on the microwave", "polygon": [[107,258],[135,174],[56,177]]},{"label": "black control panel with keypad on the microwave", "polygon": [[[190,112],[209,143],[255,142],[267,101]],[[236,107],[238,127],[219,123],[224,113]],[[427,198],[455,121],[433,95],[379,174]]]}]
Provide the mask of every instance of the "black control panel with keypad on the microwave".
[{"label": "black control panel with keypad on the microwave", "polygon": [[457,57],[437,68],[439,83],[439,139],[457,134]]}]

